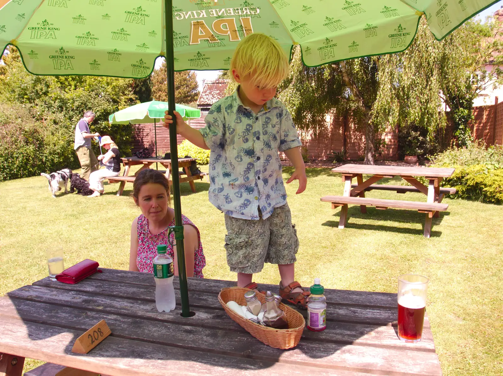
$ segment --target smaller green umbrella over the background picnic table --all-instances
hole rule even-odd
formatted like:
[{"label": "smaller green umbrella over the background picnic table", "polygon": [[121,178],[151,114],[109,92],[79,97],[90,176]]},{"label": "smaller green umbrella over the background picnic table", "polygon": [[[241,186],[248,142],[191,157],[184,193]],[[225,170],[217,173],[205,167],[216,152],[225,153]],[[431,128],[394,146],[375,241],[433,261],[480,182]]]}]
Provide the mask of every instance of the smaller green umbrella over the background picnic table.
[{"label": "smaller green umbrella over the background picnic table", "polygon": [[[117,111],[108,117],[110,124],[145,124],[154,123],[155,137],[155,157],[157,157],[157,130],[155,124],[164,117],[164,112],[168,110],[167,102],[150,101],[130,106]],[[201,110],[197,108],[176,104],[176,110],[182,115],[184,120],[197,119],[201,117]]]}]

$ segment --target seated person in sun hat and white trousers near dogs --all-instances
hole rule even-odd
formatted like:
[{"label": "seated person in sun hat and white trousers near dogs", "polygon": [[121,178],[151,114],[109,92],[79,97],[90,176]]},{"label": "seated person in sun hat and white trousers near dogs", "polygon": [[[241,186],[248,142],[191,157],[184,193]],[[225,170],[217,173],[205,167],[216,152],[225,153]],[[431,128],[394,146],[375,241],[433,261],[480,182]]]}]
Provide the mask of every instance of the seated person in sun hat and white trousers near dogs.
[{"label": "seated person in sun hat and white trousers near dogs", "polygon": [[98,197],[103,194],[105,192],[103,179],[117,176],[121,171],[121,154],[112,138],[110,136],[101,137],[100,146],[108,150],[105,155],[101,154],[98,156],[98,161],[101,161],[105,168],[94,171],[89,176],[89,188],[95,192],[88,197]]}]

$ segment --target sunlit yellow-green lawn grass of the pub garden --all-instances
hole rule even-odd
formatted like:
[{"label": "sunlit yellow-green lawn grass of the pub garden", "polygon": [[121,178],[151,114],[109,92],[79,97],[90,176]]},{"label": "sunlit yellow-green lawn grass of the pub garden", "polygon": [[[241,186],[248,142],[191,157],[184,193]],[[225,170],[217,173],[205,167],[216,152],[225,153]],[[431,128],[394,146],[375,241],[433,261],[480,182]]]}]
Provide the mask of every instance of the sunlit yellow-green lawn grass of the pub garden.
[{"label": "sunlit yellow-green lawn grass of the pub garden", "polygon": [[[284,178],[291,172],[285,168]],[[197,182],[192,193],[182,184],[182,210],[201,231],[205,277],[235,280],[223,249],[223,214],[209,203],[208,187],[206,180]],[[59,193],[53,199],[43,177],[0,183],[0,294],[45,277],[45,249],[53,244],[63,247],[67,267],[90,258],[127,269],[131,222],[140,212],[128,197],[132,184],[121,197],[117,188],[106,185],[100,198]],[[347,228],[339,230],[340,209],[319,200],[343,192],[340,175],[328,169],[309,169],[306,191],[295,195],[296,189],[295,182],[287,186],[300,240],[299,282],[309,286],[320,277],[327,288],[396,292],[399,274],[426,275],[427,310],[444,375],[503,373],[503,206],[445,199],[449,209],[434,218],[432,238],[425,239],[425,214],[412,210],[369,207],[361,214],[350,206]],[[397,199],[394,192],[367,195]],[[406,193],[398,199],[426,196]],[[254,280],[278,283],[277,267],[266,265]],[[27,360],[25,369],[37,364]]]}]

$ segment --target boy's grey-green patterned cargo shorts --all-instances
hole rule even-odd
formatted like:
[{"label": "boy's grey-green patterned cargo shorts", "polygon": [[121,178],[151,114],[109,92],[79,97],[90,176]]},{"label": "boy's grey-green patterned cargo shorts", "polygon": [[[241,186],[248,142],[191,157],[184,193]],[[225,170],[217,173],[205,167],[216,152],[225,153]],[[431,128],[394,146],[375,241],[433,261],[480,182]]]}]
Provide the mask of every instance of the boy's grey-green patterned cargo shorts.
[{"label": "boy's grey-green patterned cargo shorts", "polygon": [[225,250],[230,270],[258,273],[264,263],[291,264],[297,261],[297,230],[288,204],[278,206],[266,219],[259,209],[259,220],[225,215]]}]

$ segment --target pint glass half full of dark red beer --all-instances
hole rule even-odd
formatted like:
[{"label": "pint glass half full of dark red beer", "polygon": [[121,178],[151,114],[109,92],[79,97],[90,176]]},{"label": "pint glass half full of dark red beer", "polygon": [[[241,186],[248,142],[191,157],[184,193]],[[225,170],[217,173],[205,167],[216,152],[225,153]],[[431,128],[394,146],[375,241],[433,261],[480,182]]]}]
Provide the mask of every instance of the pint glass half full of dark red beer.
[{"label": "pint glass half full of dark red beer", "polygon": [[398,277],[398,338],[419,342],[425,320],[428,278],[417,274]]}]

